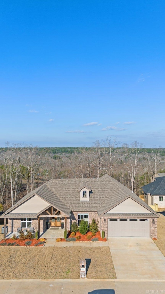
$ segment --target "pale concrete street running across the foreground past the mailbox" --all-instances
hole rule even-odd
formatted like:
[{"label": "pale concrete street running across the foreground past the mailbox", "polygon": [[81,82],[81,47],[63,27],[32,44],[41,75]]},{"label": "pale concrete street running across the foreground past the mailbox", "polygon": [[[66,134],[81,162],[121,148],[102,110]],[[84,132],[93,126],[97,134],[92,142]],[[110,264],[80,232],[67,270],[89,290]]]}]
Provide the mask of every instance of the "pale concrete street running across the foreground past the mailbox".
[{"label": "pale concrete street running across the foreground past the mailbox", "polygon": [[0,294],[165,293],[165,280],[57,279],[0,280]]}]

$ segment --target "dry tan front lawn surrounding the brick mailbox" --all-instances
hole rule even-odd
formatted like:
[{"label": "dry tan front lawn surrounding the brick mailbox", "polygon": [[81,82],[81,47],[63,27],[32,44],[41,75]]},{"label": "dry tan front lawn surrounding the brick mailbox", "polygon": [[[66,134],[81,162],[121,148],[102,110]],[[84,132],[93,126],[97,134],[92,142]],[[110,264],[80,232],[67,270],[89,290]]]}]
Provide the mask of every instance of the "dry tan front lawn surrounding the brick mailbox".
[{"label": "dry tan front lawn surrounding the brick mailbox", "polygon": [[116,278],[109,247],[0,247],[0,279]]}]

